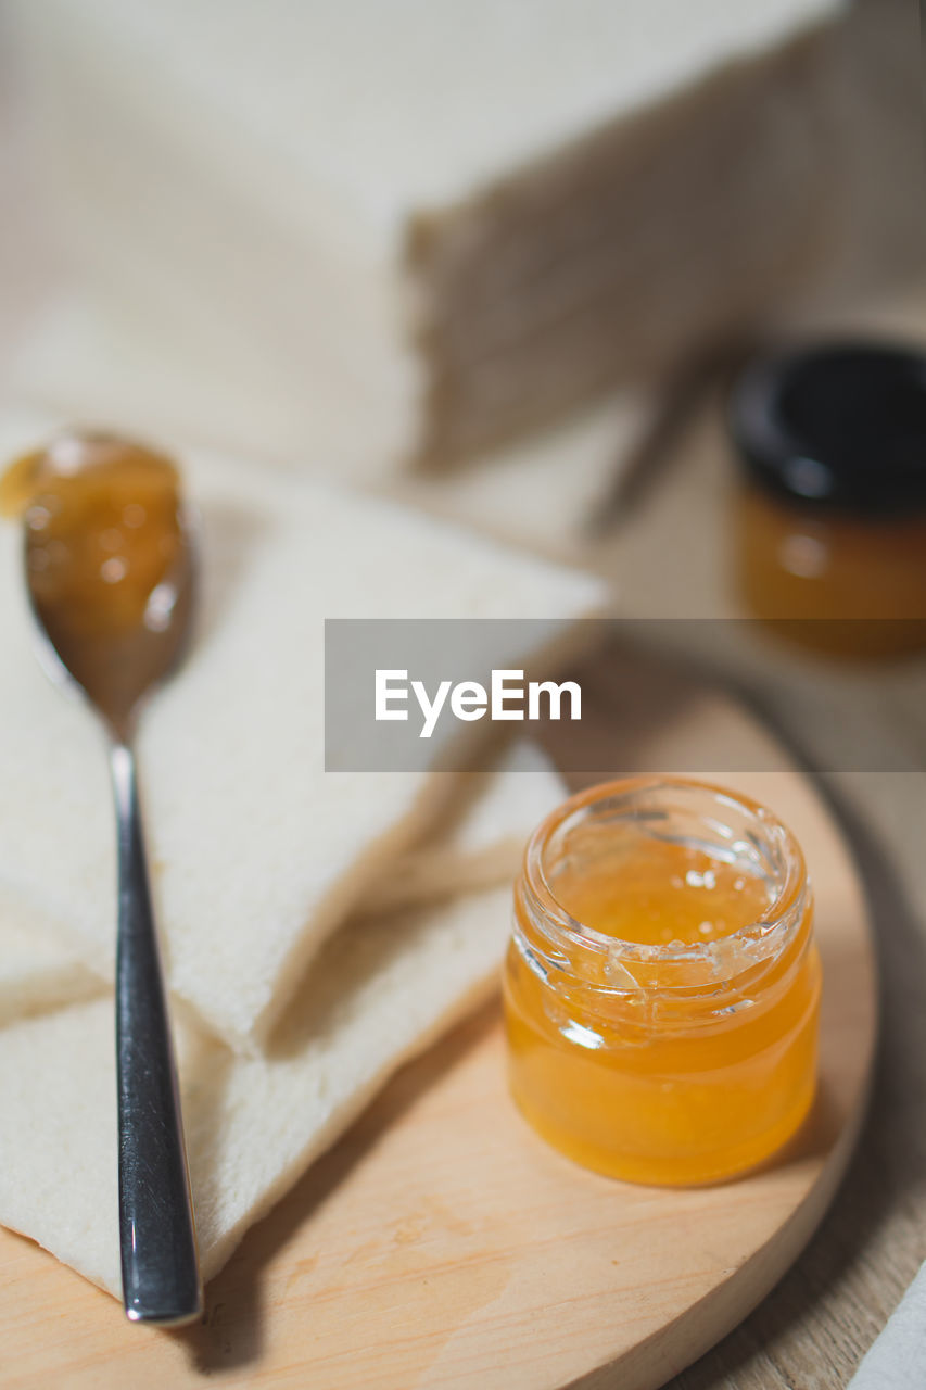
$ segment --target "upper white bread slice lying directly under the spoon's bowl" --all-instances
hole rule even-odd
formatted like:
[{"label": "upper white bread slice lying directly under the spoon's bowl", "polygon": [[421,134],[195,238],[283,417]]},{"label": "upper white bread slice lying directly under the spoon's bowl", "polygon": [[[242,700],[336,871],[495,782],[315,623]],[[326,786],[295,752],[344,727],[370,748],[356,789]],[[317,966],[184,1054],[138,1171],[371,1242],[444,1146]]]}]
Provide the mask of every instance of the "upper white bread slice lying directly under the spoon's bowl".
[{"label": "upper white bread slice lying directly under the spoon's bowl", "polygon": [[[188,474],[204,518],[203,620],[143,723],[139,760],[171,986],[207,1031],[247,1049],[452,791],[444,774],[324,771],[323,619],[570,619],[602,587],[373,499],[203,457]],[[18,541],[3,528],[0,885],[72,929],[106,974],[103,741],[36,666]]]}]

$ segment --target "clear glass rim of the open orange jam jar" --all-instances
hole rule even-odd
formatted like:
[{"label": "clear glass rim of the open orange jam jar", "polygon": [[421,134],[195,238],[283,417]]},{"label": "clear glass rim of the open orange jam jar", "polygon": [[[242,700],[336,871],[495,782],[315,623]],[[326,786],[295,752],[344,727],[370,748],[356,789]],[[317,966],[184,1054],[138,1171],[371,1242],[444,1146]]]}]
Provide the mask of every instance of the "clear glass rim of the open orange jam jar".
[{"label": "clear glass rim of the open orange jam jar", "polygon": [[[706,792],[720,803],[726,802],[740,812],[747,812],[749,817],[755,819],[777,841],[783,852],[783,872],[776,877],[774,897],[756,919],[713,941],[672,941],[653,945],[601,933],[578,922],[559,902],[544,869],[544,852],[552,835],[567,823],[570,816],[587,810],[596,802],[608,802],[616,796],[626,796],[635,792],[662,790]],[[688,966],[692,960],[713,962],[717,977],[731,981],[744,969],[780,956],[791,941],[794,931],[804,920],[811,902],[811,885],[804,852],[794,833],[767,806],[763,806],[752,796],[716,783],[702,781],[695,777],[659,774],[622,777],[606,783],[596,783],[560,802],[539,823],[527,842],[520,888],[526,891],[528,906],[534,909],[531,913],[534,927],[542,931],[553,948],[566,944],[580,952],[605,956],[609,960],[617,959],[628,965],[641,966],[667,966],[669,977],[663,974],[659,988],[669,991],[673,988],[670,979],[673,967]],[[738,967],[730,969],[724,962],[730,960],[730,954],[736,951],[737,945],[745,948],[747,959]],[[640,987],[645,988],[644,986]],[[690,987],[688,981],[681,987],[687,992]]]}]

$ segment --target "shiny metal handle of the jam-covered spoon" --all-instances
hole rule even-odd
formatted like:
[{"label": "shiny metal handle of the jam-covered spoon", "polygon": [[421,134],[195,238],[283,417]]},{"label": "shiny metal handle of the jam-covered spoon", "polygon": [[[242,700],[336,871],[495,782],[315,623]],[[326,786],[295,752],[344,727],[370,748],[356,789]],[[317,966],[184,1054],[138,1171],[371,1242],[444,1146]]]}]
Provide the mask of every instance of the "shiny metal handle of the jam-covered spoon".
[{"label": "shiny metal handle of the jam-covered spoon", "polygon": [[115,1058],[122,1302],[132,1322],[199,1316],[203,1293],[135,758],[110,751],[118,828]]}]

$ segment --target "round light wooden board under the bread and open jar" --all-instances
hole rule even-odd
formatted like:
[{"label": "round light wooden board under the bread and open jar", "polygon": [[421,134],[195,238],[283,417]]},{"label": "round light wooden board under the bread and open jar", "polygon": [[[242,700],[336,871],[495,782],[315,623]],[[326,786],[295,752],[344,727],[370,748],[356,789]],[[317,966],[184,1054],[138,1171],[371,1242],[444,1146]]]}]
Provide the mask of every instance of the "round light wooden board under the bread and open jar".
[{"label": "round light wooden board under the bread and open jar", "polygon": [[637,662],[599,662],[595,682],[583,738],[602,776],[762,769],[713,780],[770,805],[805,848],[825,992],[819,1099],[797,1141],[709,1188],[587,1173],[510,1105],[492,1004],[405,1068],[247,1234],[209,1287],[202,1326],[129,1326],[106,1294],[1,1232],[0,1383],[649,1390],[773,1286],[862,1119],[876,981],[861,885],[819,796],[738,706]]}]

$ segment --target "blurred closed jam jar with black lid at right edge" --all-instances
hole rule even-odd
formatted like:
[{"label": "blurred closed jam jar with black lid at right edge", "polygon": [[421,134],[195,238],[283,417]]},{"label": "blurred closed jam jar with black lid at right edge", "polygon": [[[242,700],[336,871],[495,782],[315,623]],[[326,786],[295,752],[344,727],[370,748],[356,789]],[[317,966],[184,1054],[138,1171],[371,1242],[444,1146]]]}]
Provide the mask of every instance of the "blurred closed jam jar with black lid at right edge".
[{"label": "blurred closed jam jar with black lid at right edge", "polygon": [[730,425],[749,612],[834,655],[926,645],[926,354],[847,342],[758,360]]}]

